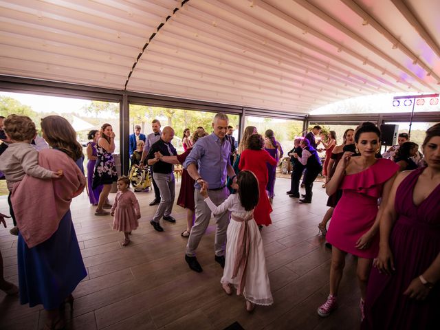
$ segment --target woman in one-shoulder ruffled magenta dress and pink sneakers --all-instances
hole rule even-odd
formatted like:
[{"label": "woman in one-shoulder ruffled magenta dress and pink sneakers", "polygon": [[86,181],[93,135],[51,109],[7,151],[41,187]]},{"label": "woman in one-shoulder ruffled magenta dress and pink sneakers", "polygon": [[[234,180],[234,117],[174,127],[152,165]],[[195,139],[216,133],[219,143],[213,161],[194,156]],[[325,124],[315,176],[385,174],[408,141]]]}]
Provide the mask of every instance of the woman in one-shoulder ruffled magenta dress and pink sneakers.
[{"label": "woman in one-shoulder ruffled magenta dress and pink sneakers", "polygon": [[355,146],[360,156],[351,157],[347,151],[342,155],[335,173],[327,183],[327,195],[338,189],[342,197],[333,211],[327,232],[327,241],[333,245],[330,267],[330,294],[318,308],[319,316],[329,316],[338,307],[337,295],[347,253],[358,256],[358,280],[363,317],[366,285],[373,259],[379,250],[379,219],[393,186],[397,166],[389,159],[376,159],[380,151],[380,130],[371,122],[365,122],[355,132]]}]

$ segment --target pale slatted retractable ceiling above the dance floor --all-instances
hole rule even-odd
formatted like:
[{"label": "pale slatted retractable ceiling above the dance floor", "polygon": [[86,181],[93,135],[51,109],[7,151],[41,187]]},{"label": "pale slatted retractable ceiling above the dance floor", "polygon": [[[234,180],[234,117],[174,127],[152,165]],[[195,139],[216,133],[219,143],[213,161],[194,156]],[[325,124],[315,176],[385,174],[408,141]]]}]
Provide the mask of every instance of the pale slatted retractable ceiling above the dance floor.
[{"label": "pale slatted retractable ceiling above the dance floor", "polygon": [[308,113],[440,91],[440,1],[5,0],[0,74]]}]

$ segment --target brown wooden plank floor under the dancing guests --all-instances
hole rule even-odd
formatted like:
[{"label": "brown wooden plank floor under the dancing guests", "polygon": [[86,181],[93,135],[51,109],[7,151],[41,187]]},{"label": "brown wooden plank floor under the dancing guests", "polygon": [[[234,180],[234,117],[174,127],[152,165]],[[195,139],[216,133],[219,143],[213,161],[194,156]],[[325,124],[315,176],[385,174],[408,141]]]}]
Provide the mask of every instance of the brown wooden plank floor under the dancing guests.
[{"label": "brown wooden plank floor under the dancing guests", "polygon": [[[314,202],[300,204],[285,194],[289,183],[276,180],[273,224],[261,233],[275,303],[256,307],[252,314],[245,311],[243,297],[227,296],[221,289],[212,222],[197,250],[203,267],[197,274],[184,261],[187,239],[180,232],[186,210],[175,206],[177,223],[165,222],[165,231],[156,232],[149,223],[156,208],[148,206],[153,194],[137,192],[140,228],[123,248],[123,234],[111,230],[112,218],[95,217],[83,193],[72,203],[72,218],[88,276],[74,291],[67,329],[224,329],[234,322],[250,330],[358,329],[360,294],[352,256],[347,256],[338,310],[326,319],[316,314],[329,292],[331,252],[317,236],[327,196],[315,184]],[[0,197],[0,212],[8,213],[5,197]],[[9,234],[11,225],[0,230],[0,249],[5,278],[17,284],[17,237]],[[44,322],[41,305],[22,306],[17,296],[0,292],[0,329],[41,329]]]}]

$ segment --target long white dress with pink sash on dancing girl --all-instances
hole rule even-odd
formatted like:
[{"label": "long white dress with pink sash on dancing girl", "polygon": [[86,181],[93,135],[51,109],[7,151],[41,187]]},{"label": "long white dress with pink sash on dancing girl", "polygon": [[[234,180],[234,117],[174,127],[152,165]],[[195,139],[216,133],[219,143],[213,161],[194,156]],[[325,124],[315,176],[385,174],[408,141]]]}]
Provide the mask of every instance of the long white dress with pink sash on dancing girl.
[{"label": "long white dress with pink sash on dancing girl", "polygon": [[[241,275],[243,274],[243,267],[239,268],[239,271],[234,278],[232,278],[232,276],[236,261],[236,252],[239,250],[237,244],[243,245],[243,241],[239,239],[239,234],[241,227],[245,225],[245,222],[235,221],[233,218],[248,219],[252,216],[253,210],[246,211],[243,206],[241,206],[238,194],[230,195],[228,199],[219,206],[215,206],[209,197],[205,199],[205,201],[214,214],[223,213],[225,210],[231,211],[232,217],[227,232],[228,240],[226,243],[225,269],[223,270],[223,277],[220,282],[230,283],[235,287],[238,287],[241,281]],[[256,225],[253,217],[248,221],[248,238],[250,245],[243,296],[256,305],[272,305],[274,303],[274,298],[272,297],[272,292],[270,292],[263,241],[261,239],[258,225]]]}]

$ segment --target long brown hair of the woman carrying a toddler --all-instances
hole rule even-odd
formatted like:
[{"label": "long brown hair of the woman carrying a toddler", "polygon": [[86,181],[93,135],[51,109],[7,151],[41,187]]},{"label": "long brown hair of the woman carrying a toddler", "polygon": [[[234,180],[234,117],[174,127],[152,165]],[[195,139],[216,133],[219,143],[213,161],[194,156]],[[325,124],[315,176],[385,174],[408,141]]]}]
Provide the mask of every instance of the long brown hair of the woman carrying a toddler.
[{"label": "long brown hair of the woman carrying a toddler", "polygon": [[41,129],[47,143],[63,151],[74,161],[84,156],[83,146],[76,141],[76,131],[72,125],[60,115],[48,115],[41,120]]}]

